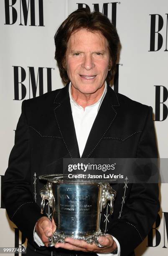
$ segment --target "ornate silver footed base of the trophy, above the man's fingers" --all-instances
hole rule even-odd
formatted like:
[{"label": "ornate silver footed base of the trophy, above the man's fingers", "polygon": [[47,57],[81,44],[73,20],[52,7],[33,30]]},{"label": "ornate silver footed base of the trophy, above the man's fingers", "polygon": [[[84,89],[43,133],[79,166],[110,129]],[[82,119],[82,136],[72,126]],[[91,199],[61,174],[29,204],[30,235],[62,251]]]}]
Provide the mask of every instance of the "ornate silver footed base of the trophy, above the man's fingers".
[{"label": "ornate silver footed base of the trophy, above the man's fingers", "polygon": [[61,235],[61,234],[58,234],[58,233],[53,233],[52,236],[50,236],[48,238],[48,246],[54,246],[56,243],[66,243],[65,242],[65,238],[66,237],[70,237],[70,238],[73,238],[73,239],[79,239],[79,240],[84,240],[86,241],[87,243],[89,244],[93,244],[95,243],[98,247],[104,247],[102,246],[101,244],[99,244],[98,242],[98,239],[99,239],[99,236],[105,236],[106,234],[105,233],[102,233],[101,231],[98,231],[98,232],[95,232],[93,235],[90,235],[90,236],[66,236],[66,235]]}]

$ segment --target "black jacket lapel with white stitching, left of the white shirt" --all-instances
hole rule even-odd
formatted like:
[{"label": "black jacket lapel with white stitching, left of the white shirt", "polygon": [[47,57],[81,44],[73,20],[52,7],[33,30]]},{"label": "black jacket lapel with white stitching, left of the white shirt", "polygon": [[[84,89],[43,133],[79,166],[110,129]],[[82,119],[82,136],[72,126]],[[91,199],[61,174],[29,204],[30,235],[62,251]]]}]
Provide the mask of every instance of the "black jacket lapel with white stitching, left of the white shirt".
[{"label": "black jacket lapel with white stitching, left of the white shirt", "polygon": [[69,99],[69,84],[55,97],[54,116],[69,158],[80,158]]}]

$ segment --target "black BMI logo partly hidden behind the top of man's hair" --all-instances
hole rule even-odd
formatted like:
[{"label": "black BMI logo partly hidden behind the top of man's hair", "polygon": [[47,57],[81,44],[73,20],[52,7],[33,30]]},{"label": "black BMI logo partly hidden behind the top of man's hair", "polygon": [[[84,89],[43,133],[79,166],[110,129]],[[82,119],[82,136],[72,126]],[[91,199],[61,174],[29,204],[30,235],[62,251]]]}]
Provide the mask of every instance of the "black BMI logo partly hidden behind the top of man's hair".
[{"label": "black BMI logo partly hidden behind the top of man's hair", "polygon": [[[102,7],[102,13],[104,15],[106,15],[107,17],[109,17],[108,13],[109,13],[109,8],[111,8],[112,10],[112,16],[109,17],[112,20],[112,23],[114,26],[116,26],[116,13],[117,13],[117,3],[119,2],[114,2],[114,3],[103,3],[103,7]],[[78,5],[78,9],[79,8],[88,8],[89,10],[91,9],[91,6],[89,7],[89,5],[85,4],[85,3],[76,3]],[[101,12],[100,8],[99,8],[99,4],[98,3],[93,3],[93,11],[97,11],[97,12]]]}]

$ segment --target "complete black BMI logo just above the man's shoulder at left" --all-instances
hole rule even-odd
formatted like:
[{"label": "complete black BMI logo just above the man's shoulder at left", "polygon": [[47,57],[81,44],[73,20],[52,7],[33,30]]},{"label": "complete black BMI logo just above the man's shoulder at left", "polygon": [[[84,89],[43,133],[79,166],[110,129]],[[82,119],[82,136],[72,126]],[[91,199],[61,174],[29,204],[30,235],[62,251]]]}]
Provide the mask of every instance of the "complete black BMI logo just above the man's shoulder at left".
[{"label": "complete black BMI logo just above the man's shoulder at left", "polygon": [[[46,74],[47,80],[47,92],[51,92],[52,84],[51,84],[51,70],[53,68],[44,68],[38,67],[38,70],[35,74],[34,67],[28,67],[28,69],[24,69],[20,66],[13,66],[14,72],[14,100],[23,100],[28,91],[28,98],[36,97],[43,95],[44,91],[44,84],[43,84],[43,76],[44,73]],[[27,72],[27,75],[26,75]],[[29,88],[26,89],[26,82],[25,79],[28,77],[29,81]],[[38,95],[37,95],[38,94]]]}]

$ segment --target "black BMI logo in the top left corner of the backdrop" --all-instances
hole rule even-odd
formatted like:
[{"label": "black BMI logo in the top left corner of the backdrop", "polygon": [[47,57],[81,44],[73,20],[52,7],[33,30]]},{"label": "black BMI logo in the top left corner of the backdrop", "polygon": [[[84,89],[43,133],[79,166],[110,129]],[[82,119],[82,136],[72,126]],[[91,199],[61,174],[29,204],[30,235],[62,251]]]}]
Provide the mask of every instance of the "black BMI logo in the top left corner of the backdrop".
[{"label": "black BMI logo in the top left corner of the backdrop", "polygon": [[20,26],[44,26],[43,0],[5,0],[5,25],[17,20]]}]

